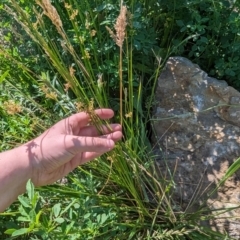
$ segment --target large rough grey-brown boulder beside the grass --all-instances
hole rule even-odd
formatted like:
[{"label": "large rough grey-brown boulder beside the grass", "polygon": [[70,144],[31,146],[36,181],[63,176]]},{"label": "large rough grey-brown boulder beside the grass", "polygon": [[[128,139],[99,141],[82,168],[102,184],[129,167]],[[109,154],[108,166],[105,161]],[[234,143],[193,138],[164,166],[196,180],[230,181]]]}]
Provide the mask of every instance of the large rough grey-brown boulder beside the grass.
[{"label": "large rough grey-brown boulder beside the grass", "polygon": [[[240,157],[240,93],[211,78],[198,65],[171,57],[156,89],[153,142],[158,165],[174,179],[173,198],[185,210],[206,201],[213,209],[240,204],[240,174],[209,196],[228,167]],[[171,174],[170,174],[171,173]],[[172,175],[172,176],[171,176]],[[239,210],[211,222],[240,239]]]}]

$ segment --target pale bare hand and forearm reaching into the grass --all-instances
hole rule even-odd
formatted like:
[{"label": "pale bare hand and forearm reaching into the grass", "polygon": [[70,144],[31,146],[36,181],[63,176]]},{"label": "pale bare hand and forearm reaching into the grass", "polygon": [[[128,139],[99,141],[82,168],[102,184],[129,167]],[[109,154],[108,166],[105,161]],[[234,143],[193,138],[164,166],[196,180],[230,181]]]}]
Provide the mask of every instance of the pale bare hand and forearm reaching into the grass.
[{"label": "pale bare hand and forearm reaching into the grass", "polygon": [[[101,119],[110,119],[111,109],[98,109]],[[26,190],[29,179],[35,186],[56,182],[77,166],[111,151],[122,138],[119,124],[102,126],[102,135],[81,112],[63,119],[37,138],[0,153],[0,212]]]}]

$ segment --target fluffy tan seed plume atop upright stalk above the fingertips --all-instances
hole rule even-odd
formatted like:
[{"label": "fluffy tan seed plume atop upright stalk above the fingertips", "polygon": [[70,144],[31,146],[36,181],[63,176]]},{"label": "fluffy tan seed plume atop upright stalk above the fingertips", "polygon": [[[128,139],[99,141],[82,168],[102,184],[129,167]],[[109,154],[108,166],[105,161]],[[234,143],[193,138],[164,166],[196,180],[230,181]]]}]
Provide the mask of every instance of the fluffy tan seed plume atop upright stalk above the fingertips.
[{"label": "fluffy tan seed plume atop upright stalk above the fingertips", "polygon": [[125,30],[127,26],[127,7],[121,6],[120,14],[117,18],[117,21],[114,25],[114,29],[116,31],[116,34],[109,28],[106,27],[108,30],[111,38],[114,40],[114,42],[119,46],[123,46],[123,42],[125,39]]}]

